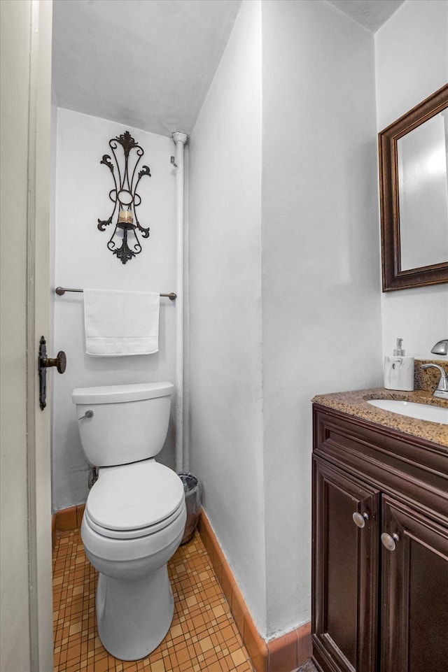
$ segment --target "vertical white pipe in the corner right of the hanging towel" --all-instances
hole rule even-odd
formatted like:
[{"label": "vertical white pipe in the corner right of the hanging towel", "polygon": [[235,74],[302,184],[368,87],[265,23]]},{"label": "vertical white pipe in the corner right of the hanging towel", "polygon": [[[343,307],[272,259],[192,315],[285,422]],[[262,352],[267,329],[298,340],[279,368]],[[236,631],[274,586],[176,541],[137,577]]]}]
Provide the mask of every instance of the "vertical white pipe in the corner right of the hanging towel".
[{"label": "vertical white pipe in the corner right of the hanging towel", "polygon": [[176,144],[174,167],[176,169],[176,471],[183,471],[183,308],[184,308],[184,172],[183,150],[188,136],[180,131],[173,133]]}]

